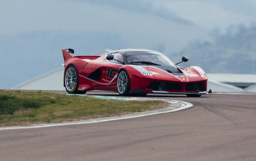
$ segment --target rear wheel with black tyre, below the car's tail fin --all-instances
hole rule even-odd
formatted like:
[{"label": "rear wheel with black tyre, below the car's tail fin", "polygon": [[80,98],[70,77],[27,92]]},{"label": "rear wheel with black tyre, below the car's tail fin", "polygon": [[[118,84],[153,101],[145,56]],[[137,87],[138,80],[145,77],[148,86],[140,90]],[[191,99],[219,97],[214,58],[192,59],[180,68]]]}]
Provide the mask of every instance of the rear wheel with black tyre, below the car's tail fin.
[{"label": "rear wheel with black tyre, below the car's tail fin", "polygon": [[65,88],[68,93],[71,94],[85,94],[86,91],[78,91],[79,79],[78,72],[75,66],[68,67],[64,77]]}]

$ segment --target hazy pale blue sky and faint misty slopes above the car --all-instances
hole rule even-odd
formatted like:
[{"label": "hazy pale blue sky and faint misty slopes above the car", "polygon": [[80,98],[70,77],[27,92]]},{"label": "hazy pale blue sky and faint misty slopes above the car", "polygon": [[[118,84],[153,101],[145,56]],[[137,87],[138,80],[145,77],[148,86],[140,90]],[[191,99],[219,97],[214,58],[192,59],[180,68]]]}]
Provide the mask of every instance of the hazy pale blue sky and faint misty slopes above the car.
[{"label": "hazy pale blue sky and faint misty slopes above the car", "polygon": [[[61,49],[163,53],[256,22],[255,0],[0,0],[0,89],[61,67]],[[49,82],[50,83],[50,82]]]}]

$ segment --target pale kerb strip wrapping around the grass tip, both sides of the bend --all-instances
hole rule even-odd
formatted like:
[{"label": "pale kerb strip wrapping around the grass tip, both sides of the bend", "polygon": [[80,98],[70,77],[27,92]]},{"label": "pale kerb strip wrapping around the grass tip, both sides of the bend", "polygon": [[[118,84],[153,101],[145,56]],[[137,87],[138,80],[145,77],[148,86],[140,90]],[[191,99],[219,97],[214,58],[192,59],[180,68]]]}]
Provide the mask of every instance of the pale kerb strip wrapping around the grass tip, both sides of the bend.
[{"label": "pale kerb strip wrapping around the grass tip, both sides of the bend", "polygon": [[193,104],[185,102],[185,101],[166,100],[166,99],[157,99],[157,98],[116,97],[116,96],[87,95],[87,94],[79,95],[79,96],[101,98],[101,99],[108,99],[108,100],[120,100],[120,101],[155,101],[155,100],[158,100],[158,101],[166,101],[166,102],[170,103],[170,105],[168,107],[164,107],[164,108],[157,109],[157,110],[138,112],[138,113],[133,113],[133,114],[129,114],[129,115],[113,116],[113,117],[97,118],[97,119],[87,119],[87,120],[74,121],[74,122],[53,123],[53,124],[35,124],[35,125],[26,125],[26,126],[0,127],[0,130],[41,128],[41,127],[78,125],[78,124],[90,124],[90,123],[97,123],[97,122],[115,121],[115,120],[120,120],[120,119],[137,118],[137,117],[143,117],[143,116],[149,116],[149,115],[157,115],[157,114],[161,114],[161,113],[175,112],[175,111],[183,110],[183,109],[193,106]]}]

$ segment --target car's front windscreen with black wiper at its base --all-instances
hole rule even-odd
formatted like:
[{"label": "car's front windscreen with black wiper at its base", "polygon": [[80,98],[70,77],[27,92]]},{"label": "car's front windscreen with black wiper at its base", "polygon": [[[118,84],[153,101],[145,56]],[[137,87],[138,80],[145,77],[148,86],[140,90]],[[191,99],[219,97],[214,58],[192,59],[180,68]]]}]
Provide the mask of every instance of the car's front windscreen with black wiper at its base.
[{"label": "car's front windscreen with black wiper at its base", "polygon": [[124,54],[128,64],[146,64],[157,66],[175,66],[175,64],[160,52],[134,51]]}]

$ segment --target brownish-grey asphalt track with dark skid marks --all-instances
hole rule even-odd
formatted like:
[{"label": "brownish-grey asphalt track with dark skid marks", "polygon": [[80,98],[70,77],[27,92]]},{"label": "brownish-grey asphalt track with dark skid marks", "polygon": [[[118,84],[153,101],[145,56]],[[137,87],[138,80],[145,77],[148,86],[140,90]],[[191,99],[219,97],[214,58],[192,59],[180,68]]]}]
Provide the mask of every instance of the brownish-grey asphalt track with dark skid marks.
[{"label": "brownish-grey asphalt track with dark skid marks", "polygon": [[[117,96],[116,93],[87,92]],[[185,110],[92,124],[0,130],[3,161],[255,161],[256,94],[146,95]]]}]

